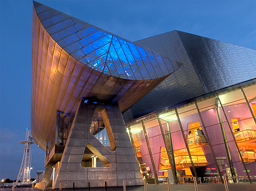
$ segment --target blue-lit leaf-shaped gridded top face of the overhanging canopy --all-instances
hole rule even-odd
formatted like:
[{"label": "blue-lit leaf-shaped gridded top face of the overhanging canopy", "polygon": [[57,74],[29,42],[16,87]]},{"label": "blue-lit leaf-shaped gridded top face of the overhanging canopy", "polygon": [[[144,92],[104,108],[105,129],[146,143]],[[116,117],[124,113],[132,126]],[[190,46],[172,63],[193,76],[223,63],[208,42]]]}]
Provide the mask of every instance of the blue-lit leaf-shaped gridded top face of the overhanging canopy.
[{"label": "blue-lit leaf-shaped gridded top face of the overhanging canopy", "polygon": [[69,55],[111,76],[130,80],[152,80],[174,71],[168,57],[34,2],[47,33]]}]

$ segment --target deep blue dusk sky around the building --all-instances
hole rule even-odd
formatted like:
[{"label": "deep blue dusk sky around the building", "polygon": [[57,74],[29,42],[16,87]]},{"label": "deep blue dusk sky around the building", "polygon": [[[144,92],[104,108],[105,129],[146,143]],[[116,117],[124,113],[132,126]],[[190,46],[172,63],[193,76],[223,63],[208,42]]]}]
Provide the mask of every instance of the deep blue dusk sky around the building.
[{"label": "deep blue dusk sky around the building", "polygon": [[[177,29],[256,49],[255,0],[37,2],[132,41]],[[0,180],[16,180],[31,128],[32,6],[0,0]],[[45,153],[32,150],[35,178]]]}]

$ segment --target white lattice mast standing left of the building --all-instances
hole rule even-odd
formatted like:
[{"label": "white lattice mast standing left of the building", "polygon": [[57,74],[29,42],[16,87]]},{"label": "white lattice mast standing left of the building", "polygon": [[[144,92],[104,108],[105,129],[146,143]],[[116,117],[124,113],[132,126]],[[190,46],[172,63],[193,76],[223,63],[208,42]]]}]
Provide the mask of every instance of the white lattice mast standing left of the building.
[{"label": "white lattice mast standing left of the building", "polygon": [[25,144],[24,146],[24,153],[23,153],[23,158],[20,166],[20,172],[17,177],[16,183],[21,181],[22,183],[30,181],[30,170],[31,170],[31,145],[34,144],[32,141],[32,136],[30,133],[30,130],[27,129],[26,131],[26,140],[20,142],[20,144]]}]

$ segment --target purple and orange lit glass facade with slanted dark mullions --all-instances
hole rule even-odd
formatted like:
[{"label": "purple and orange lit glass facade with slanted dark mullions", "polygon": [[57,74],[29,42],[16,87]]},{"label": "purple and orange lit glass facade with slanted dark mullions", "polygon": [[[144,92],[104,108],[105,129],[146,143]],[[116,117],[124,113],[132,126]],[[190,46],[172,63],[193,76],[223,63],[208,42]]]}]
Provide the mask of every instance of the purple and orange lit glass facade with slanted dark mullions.
[{"label": "purple and orange lit glass facade with slanted dark mullions", "polygon": [[148,183],[256,181],[256,83],[127,124]]}]

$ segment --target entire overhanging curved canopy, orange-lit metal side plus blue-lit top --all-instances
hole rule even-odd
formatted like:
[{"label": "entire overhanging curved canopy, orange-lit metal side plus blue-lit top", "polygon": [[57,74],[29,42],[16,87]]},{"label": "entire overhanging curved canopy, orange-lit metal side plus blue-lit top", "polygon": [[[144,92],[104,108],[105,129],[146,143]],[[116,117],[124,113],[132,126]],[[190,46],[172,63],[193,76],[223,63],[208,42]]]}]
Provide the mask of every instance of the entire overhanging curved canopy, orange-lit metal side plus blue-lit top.
[{"label": "entire overhanging curved canopy, orange-lit metal side plus blue-lit top", "polygon": [[[81,46],[80,50],[84,51],[85,54],[82,58],[88,61],[85,64],[80,57],[76,57],[56,42],[55,39],[59,36],[54,37],[55,39],[52,36],[63,28],[62,25],[69,29],[70,27],[79,28],[76,26],[77,23],[81,24],[82,29],[86,27],[88,29],[90,25],[59,11],[56,12],[56,10],[49,9],[46,6],[36,4],[37,6],[33,10],[32,32],[31,132],[34,141],[43,150],[46,142],[53,142],[55,139],[57,110],[68,116],[74,116],[82,97],[95,97],[110,103],[118,103],[120,110],[123,112],[178,68],[176,64],[172,66],[169,58],[133,43],[129,44],[129,41],[116,37],[114,34],[111,34],[111,41],[108,43],[96,40],[94,43],[88,43],[87,45],[85,43]],[[61,16],[62,20],[53,19],[57,15]],[[49,19],[51,19],[49,23],[43,24],[44,21]],[[68,22],[64,23],[64,21]],[[55,22],[57,23],[55,24]],[[62,25],[59,26],[58,23],[62,23]],[[45,26],[52,28],[47,31]],[[78,31],[70,30],[79,37]],[[108,34],[106,32],[103,35],[106,37]],[[90,39],[92,40],[91,36]],[[120,43],[122,40],[123,44]],[[65,41],[67,44],[70,42],[69,40]],[[100,43],[105,44],[100,45]],[[124,45],[125,43],[127,45]],[[74,45],[75,43],[70,44]],[[86,52],[86,47],[90,45],[93,46],[90,47],[91,52]],[[96,47],[96,50],[93,50],[94,47]],[[129,53],[128,48],[131,53]],[[104,49],[106,53],[100,53],[99,49]],[[114,57],[119,62],[115,61]],[[135,64],[130,62],[132,57]],[[127,59],[127,62],[123,62],[124,58]],[[113,62],[115,64],[111,68]],[[140,64],[137,64],[137,62]],[[147,62],[148,64],[146,64]],[[157,71],[151,71],[146,68],[148,65],[152,65],[152,67],[158,65],[159,67]],[[109,73],[105,70],[105,67],[108,67]],[[128,76],[128,74],[131,75]],[[137,79],[138,76],[140,80]],[[148,76],[148,80],[145,80],[145,76]]]}]

